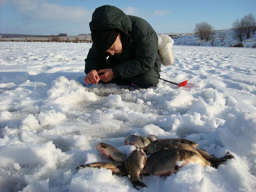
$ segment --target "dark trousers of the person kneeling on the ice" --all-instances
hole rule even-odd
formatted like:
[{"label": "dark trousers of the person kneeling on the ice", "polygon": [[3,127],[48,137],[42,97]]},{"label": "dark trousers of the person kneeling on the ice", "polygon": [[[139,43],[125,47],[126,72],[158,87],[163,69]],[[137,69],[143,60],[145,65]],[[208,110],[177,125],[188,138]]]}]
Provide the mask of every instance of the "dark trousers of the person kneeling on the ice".
[{"label": "dark trousers of the person kneeling on the ice", "polygon": [[[113,60],[108,59],[108,62],[106,65],[104,65],[105,68],[112,68],[114,67],[117,63]],[[130,78],[122,79],[122,78],[113,78],[112,80],[108,82],[102,82],[102,83],[116,83],[119,85],[131,85],[135,84],[141,88],[148,88],[151,87],[154,84],[159,83],[159,77],[160,73],[157,72],[154,68],[150,69],[149,71],[142,73],[137,76],[133,76]]]}]

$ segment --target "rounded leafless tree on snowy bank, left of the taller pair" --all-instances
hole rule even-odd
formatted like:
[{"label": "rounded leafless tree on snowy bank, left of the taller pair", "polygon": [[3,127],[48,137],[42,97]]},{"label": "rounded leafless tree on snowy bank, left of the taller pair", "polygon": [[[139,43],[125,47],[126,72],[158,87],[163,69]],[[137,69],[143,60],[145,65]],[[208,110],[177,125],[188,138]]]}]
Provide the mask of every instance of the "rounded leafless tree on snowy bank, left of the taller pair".
[{"label": "rounded leafless tree on snowy bank, left of the taller pair", "polygon": [[205,21],[196,23],[194,28],[195,34],[200,36],[201,40],[205,39],[206,41],[209,41],[212,31],[213,27]]}]

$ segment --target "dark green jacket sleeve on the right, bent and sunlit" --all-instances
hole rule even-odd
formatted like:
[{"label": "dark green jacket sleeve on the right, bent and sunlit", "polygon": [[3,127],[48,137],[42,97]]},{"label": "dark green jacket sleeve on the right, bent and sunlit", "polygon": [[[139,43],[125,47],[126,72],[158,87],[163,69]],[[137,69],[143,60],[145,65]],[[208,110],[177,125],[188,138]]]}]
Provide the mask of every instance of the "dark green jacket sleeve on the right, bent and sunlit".
[{"label": "dark green jacket sleeve on the right, bent and sunlit", "polygon": [[134,29],[132,43],[135,44],[135,58],[111,68],[116,77],[130,78],[154,68],[158,54],[158,39],[154,31],[142,33]]}]

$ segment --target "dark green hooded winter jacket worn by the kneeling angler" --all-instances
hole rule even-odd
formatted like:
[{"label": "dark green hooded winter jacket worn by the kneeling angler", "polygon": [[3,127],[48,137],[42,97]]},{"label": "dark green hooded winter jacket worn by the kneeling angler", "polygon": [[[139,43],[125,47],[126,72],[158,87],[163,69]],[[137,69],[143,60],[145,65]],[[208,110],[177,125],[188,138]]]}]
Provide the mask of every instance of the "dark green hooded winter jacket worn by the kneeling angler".
[{"label": "dark green hooded winter jacket worn by the kneeling angler", "polygon": [[158,38],[147,21],[140,17],[126,15],[114,6],[104,5],[95,9],[89,25],[91,31],[114,28],[121,30],[123,52],[112,56],[108,52],[97,51],[92,44],[92,48],[85,59],[84,72],[86,74],[92,69],[98,71],[106,68],[104,62],[108,56],[118,63],[111,68],[117,78],[130,78],[145,73],[152,68],[158,74],[161,72]]}]

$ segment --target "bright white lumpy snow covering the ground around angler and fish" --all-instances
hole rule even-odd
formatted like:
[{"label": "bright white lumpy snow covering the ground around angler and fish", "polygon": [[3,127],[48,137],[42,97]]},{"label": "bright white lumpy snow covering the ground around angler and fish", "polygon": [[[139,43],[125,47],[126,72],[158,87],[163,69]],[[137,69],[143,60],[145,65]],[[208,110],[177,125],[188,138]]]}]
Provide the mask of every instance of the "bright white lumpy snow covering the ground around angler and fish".
[{"label": "bright white lumpy snow covering the ground around angler and fish", "polygon": [[0,43],[0,191],[137,191],[128,177],[78,165],[126,154],[129,134],[186,138],[235,157],[143,176],[140,191],[256,191],[256,49],[173,46],[157,87],[83,86],[91,44]]}]

